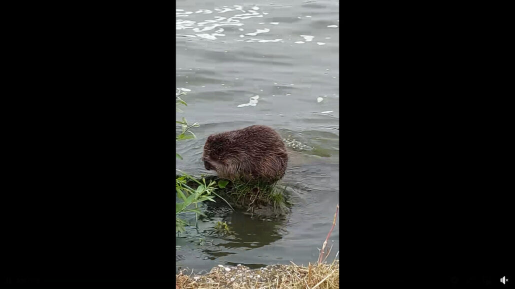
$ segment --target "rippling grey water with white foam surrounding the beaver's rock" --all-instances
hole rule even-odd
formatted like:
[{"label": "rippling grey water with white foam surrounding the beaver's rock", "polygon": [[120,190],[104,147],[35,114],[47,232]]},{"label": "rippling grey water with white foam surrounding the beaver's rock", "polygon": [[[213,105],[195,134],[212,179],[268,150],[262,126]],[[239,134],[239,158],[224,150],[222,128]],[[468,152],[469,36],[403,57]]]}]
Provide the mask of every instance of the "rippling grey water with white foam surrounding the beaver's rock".
[{"label": "rippling grey water with white foam surrounding the beaver's rock", "polygon": [[[339,2],[178,0],[176,8],[176,88],[188,104],[176,119],[200,124],[196,139],[177,142],[176,167],[208,174],[209,135],[269,125],[290,153],[282,183],[294,203],[279,220],[203,204],[209,218],[176,237],[176,270],[316,262],[339,203]],[[232,232],[214,232],[218,221]],[[331,245],[332,261],[339,217]]]}]

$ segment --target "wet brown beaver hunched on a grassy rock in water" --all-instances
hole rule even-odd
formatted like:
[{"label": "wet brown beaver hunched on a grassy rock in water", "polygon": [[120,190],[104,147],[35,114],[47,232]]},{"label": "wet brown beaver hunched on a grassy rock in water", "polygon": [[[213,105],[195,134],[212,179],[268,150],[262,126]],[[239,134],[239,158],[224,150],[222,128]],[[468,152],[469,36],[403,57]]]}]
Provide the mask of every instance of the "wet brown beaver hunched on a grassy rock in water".
[{"label": "wet brown beaver hunched on a grassy rock in water", "polygon": [[288,154],[281,136],[265,125],[210,135],[202,155],[204,167],[230,180],[275,183],[284,176]]}]

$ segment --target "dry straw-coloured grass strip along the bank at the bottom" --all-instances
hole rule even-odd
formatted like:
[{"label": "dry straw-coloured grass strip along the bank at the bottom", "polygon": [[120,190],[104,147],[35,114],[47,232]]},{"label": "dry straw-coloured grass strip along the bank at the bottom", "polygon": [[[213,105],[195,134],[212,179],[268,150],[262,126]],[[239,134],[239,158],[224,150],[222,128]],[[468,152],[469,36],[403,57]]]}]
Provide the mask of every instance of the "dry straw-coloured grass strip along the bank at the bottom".
[{"label": "dry straw-coloured grass strip along the bank at the bottom", "polygon": [[242,265],[219,265],[207,275],[194,276],[182,270],[176,275],[176,288],[339,288],[339,260],[331,264],[298,266],[269,265],[251,270]]}]

